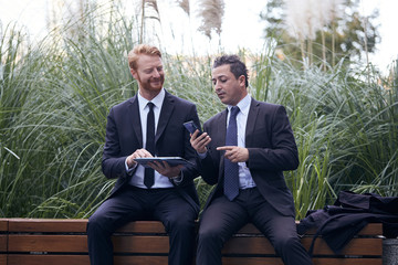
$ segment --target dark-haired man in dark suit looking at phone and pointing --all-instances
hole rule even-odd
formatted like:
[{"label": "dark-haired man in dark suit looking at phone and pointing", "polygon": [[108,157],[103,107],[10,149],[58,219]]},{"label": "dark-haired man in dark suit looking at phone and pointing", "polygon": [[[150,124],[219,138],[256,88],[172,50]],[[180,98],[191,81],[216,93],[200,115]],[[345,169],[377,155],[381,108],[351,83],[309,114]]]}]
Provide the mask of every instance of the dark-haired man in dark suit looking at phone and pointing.
[{"label": "dark-haired man in dark suit looking at phone and pointing", "polygon": [[223,244],[248,222],[270,240],[284,264],[312,264],[297,237],[293,197],[283,177],[298,166],[285,108],[248,94],[248,71],[235,55],[216,59],[212,83],[228,108],[190,140],[201,177],[217,184],[200,220],[196,264],[222,264]]}]

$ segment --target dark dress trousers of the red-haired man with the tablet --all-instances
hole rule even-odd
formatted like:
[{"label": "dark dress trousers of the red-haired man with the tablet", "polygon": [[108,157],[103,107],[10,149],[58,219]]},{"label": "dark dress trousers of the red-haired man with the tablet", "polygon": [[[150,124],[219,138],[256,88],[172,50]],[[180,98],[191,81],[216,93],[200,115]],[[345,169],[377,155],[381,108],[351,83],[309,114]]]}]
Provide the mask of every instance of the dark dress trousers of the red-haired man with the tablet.
[{"label": "dark dress trousers of the red-haired man with the tablet", "polygon": [[92,265],[113,264],[111,236],[130,221],[159,220],[169,234],[169,265],[192,262],[196,210],[175,189],[125,188],[106,200],[88,219],[88,255]]}]

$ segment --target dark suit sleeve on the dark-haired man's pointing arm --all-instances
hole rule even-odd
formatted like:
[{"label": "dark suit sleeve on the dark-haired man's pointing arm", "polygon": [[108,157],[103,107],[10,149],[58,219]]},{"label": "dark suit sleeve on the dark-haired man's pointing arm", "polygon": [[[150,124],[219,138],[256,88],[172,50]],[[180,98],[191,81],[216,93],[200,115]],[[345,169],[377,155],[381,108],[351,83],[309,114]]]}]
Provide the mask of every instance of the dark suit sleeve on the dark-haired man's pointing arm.
[{"label": "dark suit sleeve on the dark-haired man's pointing arm", "polygon": [[277,106],[272,112],[272,115],[265,116],[270,120],[264,120],[270,126],[270,135],[266,137],[271,146],[248,148],[247,165],[251,170],[294,170],[298,167],[298,152],[286,110],[283,106]]}]

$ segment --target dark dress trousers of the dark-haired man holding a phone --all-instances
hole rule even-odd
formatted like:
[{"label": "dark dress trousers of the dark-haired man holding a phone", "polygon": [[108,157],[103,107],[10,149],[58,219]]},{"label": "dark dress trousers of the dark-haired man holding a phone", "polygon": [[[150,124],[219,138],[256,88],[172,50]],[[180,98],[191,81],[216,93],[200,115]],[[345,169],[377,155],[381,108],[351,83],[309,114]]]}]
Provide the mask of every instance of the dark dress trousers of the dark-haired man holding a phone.
[{"label": "dark dress trousers of the dark-haired man holding a phone", "polygon": [[221,265],[221,248],[245,223],[252,222],[271,242],[285,265],[310,265],[312,261],[297,236],[293,216],[274,210],[256,188],[240,190],[231,202],[213,199],[199,226],[197,265]]}]

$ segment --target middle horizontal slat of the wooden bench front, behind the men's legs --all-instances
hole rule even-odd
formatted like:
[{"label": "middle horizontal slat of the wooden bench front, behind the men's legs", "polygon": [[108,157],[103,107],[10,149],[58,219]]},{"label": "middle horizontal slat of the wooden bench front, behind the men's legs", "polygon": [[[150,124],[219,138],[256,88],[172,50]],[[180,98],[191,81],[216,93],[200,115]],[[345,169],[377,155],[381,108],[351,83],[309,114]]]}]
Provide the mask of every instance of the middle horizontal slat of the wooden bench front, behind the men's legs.
[{"label": "middle horizontal slat of the wooden bench front, behind the men's legs", "polygon": [[[113,236],[115,253],[168,253],[168,236]],[[305,248],[310,248],[311,237],[302,240]],[[353,239],[344,248],[344,255],[383,254],[383,239]],[[87,252],[85,235],[9,235],[9,252]],[[274,248],[265,237],[233,237],[223,247],[224,254],[265,254],[274,255]],[[326,242],[317,239],[314,253],[333,255]]]}]

